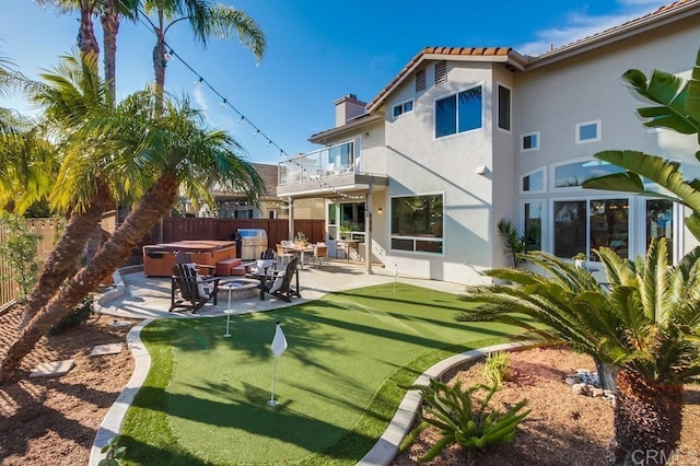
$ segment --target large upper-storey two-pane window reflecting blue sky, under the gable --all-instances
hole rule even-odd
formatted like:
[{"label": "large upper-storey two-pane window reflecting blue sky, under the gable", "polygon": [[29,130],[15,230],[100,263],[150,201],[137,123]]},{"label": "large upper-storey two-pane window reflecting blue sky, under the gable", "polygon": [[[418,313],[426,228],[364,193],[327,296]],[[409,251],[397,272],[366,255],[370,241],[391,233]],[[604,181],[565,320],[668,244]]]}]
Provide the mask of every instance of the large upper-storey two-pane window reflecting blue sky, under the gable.
[{"label": "large upper-storey two-pane window reflecting blue sky, under the gable", "polygon": [[435,138],[481,128],[481,94],[477,85],[435,101]]}]

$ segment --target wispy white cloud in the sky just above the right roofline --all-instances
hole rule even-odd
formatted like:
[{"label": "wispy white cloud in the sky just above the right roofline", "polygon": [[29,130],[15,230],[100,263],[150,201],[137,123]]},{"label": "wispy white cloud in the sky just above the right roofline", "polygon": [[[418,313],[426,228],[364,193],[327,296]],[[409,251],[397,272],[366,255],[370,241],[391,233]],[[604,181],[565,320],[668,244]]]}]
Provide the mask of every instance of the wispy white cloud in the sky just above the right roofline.
[{"label": "wispy white cloud in the sky just above the right roofline", "polygon": [[535,33],[536,40],[522,44],[515,49],[525,55],[544,54],[552,47],[559,48],[610,27],[619,26],[630,20],[651,13],[668,2],[668,0],[618,0],[622,8],[617,14],[593,15],[585,11],[571,12],[562,26],[538,31]]}]

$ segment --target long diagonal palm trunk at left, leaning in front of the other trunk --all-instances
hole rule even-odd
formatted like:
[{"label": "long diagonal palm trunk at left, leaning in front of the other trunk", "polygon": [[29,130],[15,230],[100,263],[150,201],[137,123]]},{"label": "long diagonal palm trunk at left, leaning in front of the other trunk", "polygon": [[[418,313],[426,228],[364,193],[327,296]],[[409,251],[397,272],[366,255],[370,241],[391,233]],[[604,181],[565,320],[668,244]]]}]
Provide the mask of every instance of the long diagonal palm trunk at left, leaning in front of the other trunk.
[{"label": "long diagonal palm trunk at left, leaning in front of the other trunk", "polygon": [[22,359],[54,325],[119,267],[138,242],[175,203],[177,189],[177,179],[167,175],[153,184],[139,201],[139,206],[100,247],[93,259],[20,331],[18,339],[12,342],[2,360],[0,382],[7,381],[13,374]]}]

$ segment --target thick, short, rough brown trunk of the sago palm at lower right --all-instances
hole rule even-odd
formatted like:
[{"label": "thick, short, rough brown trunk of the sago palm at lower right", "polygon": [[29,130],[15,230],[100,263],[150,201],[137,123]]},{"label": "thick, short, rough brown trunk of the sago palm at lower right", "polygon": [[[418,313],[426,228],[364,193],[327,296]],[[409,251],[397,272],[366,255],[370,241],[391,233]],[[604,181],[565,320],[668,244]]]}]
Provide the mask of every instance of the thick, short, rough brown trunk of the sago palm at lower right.
[{"label": "thick, short, rough brown trunk of the sago palm at lower right", "polygon": [[620,370],[617,388],[616,464],[666,464],[680,442],[682,385]]}]

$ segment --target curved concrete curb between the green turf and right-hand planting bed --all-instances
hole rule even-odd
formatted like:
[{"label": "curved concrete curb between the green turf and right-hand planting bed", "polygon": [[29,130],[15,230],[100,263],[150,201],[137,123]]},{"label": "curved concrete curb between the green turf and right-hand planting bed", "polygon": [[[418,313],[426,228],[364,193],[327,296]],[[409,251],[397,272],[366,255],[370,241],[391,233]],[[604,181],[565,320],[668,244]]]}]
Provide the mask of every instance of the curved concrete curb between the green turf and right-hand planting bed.
[{"label": "curved concrete curb between the green turf and right-hand planting bed", "polygon": [[[497,351],[512,351],[516,349],[523,349],[533,346],[532,341],[517,341],[502,345],[493,345],[490,347],[479,348],[470,351],[466,351],[459,354],[455,354],[447,359],[444,359],[436,364],[433,364],[425,372],[416,378],[413,384],[428,385],[430,378],[440,377],[455,365],[462,364],[472,359],[482,358],[491,352]],[[404,397],[404,400],[398,406],[394,418],[389,422],[380,440],[368,452],[362,459],[358,462],[358,466],[386,466],[388,465],[404,440],[404,436],[408,433],[413,419],[420,408],[421,398],[418,392],[410,391]]]}]

